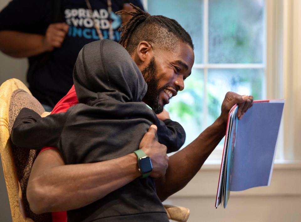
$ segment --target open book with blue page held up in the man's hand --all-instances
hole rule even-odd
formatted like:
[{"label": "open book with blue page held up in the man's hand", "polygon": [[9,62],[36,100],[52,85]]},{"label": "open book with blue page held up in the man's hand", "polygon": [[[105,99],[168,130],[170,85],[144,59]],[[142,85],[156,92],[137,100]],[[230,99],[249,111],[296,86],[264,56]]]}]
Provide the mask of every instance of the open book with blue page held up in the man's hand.
[{"label": "open book with blue page held up in the man's hand", "polygon": [[238,106],[228,116],[215,207],[227,206],[230,191],[271,184],[284,100],[254,101],[241,120]]}]

